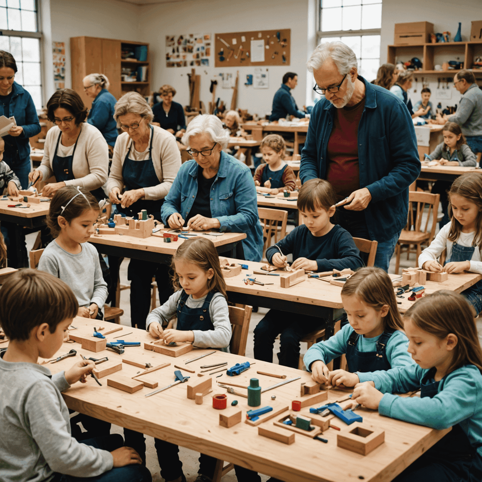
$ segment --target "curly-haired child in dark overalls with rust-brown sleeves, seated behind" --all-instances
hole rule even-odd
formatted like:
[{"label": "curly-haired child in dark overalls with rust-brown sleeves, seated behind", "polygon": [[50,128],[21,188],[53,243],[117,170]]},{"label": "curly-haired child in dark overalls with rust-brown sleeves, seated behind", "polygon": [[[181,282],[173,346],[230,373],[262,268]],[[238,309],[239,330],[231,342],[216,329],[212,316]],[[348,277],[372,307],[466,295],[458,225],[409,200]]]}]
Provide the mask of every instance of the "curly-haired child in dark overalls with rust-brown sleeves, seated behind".
[{"label": "curly-haired child in dark overalls with rust-brown sleeves, seated behind", "polygon": [[283,189],[295,190],[295,173],[283,161],[285,148],[284,139],[278,134],[269,134],[261,141],[259,150],[265,164],[259,165],[254,172],[256,191],[278,194]]}]

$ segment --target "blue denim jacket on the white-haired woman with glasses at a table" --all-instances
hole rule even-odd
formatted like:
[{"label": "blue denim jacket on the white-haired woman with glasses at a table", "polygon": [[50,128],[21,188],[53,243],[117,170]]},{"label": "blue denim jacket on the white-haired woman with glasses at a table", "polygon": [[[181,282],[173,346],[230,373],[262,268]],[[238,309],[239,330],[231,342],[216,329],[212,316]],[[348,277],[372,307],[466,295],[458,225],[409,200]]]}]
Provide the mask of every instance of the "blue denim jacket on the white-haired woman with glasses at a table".
[{"label": "blue denim jacket on the white-haired woman with glasses at a table", "polygon": [[[198,164],[185,162],[161,208],[162,222],[167,225],[171,214],[189,214],[198,194]],[[249,167],[221,152],[219,169],[212,186],[211,215],[221,223],[221,231],[246,233],[242,241],[244,257],[261,261],[263,229],[259,222],[256,187]]]}]

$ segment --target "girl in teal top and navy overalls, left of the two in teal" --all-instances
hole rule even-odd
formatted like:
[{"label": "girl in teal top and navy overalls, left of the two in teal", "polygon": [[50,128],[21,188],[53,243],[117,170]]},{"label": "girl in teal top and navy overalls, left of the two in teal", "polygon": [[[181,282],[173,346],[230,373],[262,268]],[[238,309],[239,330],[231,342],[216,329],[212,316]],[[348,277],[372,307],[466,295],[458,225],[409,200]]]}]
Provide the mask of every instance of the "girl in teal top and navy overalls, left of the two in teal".
[{"label": "girl in teal top and navy overalls, left of the two in teal", "polygon": [[[380,268],[361,268],[341,290],[346,324],[334,336],[313,345],[304,357],[318,383],[353,387],[363,372],[389,370],[413,364],[402,319],[388,274]],[[329,371],[326,363],[346,354],[348,372]]]}]

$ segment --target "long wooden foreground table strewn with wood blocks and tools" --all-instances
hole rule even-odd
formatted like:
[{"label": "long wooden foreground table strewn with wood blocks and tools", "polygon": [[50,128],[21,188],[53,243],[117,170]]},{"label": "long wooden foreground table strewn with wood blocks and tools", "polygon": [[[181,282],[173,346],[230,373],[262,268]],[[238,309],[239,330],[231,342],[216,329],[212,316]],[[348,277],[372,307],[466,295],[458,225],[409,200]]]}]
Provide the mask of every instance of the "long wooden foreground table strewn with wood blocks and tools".
[{"label": "long wooden foreground table strewn with wood blocks and tools", "polygon": [[[106,327],[112,326],[108,322],[100,322],[100,324]],[[75,318],[73,325],[78,327],[78,330],[73,330],[71,333],[79,334],[83,331],[90,334],[94,330],[94,325],[99,327],[99,321]],[[107,331],[107,328],[105,331]],[[146,331],[131,327],[124,327],[123,331],[107,335],[107,339],[123,339],[124,332],[133,332],[132,335],[125,336],[126,340],[140,341],[141,345],[144,341],[153,341],[153,338]],[[107,356],[109,361],[120,361],[122,358],[122,355],[118,355],[109,349],[98,353],[87,351],[80,348],[78,343],[64,343],[52,358],[63,355],[72,348],[86,358]],[[159,383],[157,388],[161,388],[174,382],[174,370],[176,369],[174,364],[183,366],[184,361],[196,358],[209,351],[193,349],[186,355],[173,358],[144,350],[141,346],[126,348],[125,355],[142,363],[150,362],[154,366],[163,362],[170,362],[170,366],[146,375],[146,378],[148,377]],[[80,360],[80,356],[77,358]],[[209,376],[197,376],[201,370],[201,365],[228,362],[227,366],[230,367],[235,363],[245,361],[253,362],[251,359],[238,355],[216,351],[208,357],[187,365],[189,369],[195,370],[196,373],[188,373],[184,370],[181,370],[181,372],[183,375],[191,377],[189,381],[201,381]],[[67,358],[47,366],[53,373],[56,373],[67,370],[74,362],[75,359]],[[258,360],[255,362],[256,366],[235,377],[221,374],[222,376],[215,378],[219,374],[213,375],[213,392],[204,396],[201,405],[196,405],[194,400],[187,399],[187,387],[182,383],[146,398],[145,395],[153,389],[144,387],[133,394],[129,394],[117,388],[108,387],[107,378],[110,376],[100,378],[102,387],[99,387],[92,378],[88,377],[86,384],[76,383],[62,395],[71,410],[94,416],[121,427],[140,431],[146,435],[197,452],[201,451],[203,454],[289,482],[346,482],[352,479],[364,480],[365,482],[390,481],[450,431],[450,428],[435,430],[402,422],[380,416],[376,411],[360,408],[357,409],[356,413],[362,415],[364,427],[376,427],[385,430],[385,442],[369,455],[363,456],[337,447],[336,439],[340,432],[333,428],[328,428],[321,435],[328,440],[326,444],[301,434],[295,434],[295,442],[291,445],[268,439],[258,435],[256,427],[244,423],[246,411],[250,408],[247,406],[245,398],[227,393],[227,409],[215,410],[212,407],[211,397],[215,394],[227,392],[225,388],[216,387],[216,380],[249,385],[249,379],[255,377],[259,379],[262,388],[267,388],[282,380],[271,376],[257,375],[256,371],[287,375],[287,379],[300,376],[299,380],[261,395],[261,407],[270,405],[273,408],[282,409],[283,406],[291,408],[292,400],[295,397],[299,398],[301,383],[311,381],[311,376],[307,372],[294,368],[281,367]],[[102,368],[102,364],[98,365],[98,368]],[[215,368],[213,370],[215,371]],[[122,363],[122,370],[112,376],[123,375],[130,378],[141,371],[143,369]],[[235,390],[246,393],[244,388],[235,388]],[[330,390],[328,400],[315,403],[314,406],[318,407],[326,402],[334,402],[345,393],[346,391]],[[276,401],[271,400],[272,395],[276,395]],[[238,401],[236,407],[231,406],[233,400]],[[220,415],[229,415],[239,410],[242,411],[241,423],[231,428],[219,425]],[[294,414],[297,413],[299,412]],[[279,420],[289,414],[290,411],[285,410],[276,418],[263,422],[260,427],[272,428],[274,427],[274,420]],[[348,430],[347,425],[338,418],[332,421],[343,431]],[[287,433],[293,432],[287,431]]]}]

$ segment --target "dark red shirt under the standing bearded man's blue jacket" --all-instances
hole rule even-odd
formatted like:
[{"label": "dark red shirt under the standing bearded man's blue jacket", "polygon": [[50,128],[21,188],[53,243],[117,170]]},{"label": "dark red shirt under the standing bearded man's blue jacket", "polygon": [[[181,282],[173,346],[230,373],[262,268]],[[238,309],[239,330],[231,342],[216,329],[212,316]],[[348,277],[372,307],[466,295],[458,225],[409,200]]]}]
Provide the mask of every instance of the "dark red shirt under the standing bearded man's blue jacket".
[{"label": "dark red shirt under the standing bearded man's blue jacket", "polygon": [[338,200],[360,189],[358,124],[364,107],[365,98],[352,107],[335,109],[327,147],[326,180],[335,189]]}]

